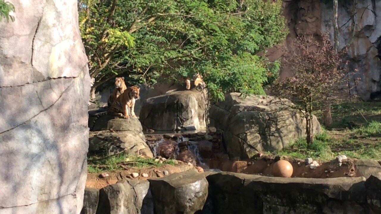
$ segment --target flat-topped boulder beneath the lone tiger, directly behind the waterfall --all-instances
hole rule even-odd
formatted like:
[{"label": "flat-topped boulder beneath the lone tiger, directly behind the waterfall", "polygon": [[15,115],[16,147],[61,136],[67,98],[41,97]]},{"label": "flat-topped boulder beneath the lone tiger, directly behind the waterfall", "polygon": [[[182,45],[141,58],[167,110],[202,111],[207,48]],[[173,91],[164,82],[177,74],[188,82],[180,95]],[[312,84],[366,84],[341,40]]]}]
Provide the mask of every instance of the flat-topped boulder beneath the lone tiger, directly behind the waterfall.
[{"label": "flat-topped boulder beneath the lone tiger, directly behind the waterfall", "polygon": [[146,99],[140,111],[142,125],[154,130],[206,129],[207,95],[195,89],[174,91]]}]

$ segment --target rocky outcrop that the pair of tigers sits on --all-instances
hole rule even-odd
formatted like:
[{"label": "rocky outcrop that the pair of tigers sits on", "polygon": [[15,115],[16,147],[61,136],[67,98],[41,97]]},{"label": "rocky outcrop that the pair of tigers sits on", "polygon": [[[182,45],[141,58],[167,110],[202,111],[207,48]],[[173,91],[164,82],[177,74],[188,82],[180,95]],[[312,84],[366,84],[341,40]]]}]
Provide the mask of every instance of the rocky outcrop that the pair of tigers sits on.
[{"label": "rocky outcrop that the pair of tigers sits on", "polygon": [[[109,115],[102,117],[108,118]],[[145,155],[153,157],[138,119],[132,117],[128,119],[114,118],[107,121],[103,120],[102,117],[99,120],[99,128],[107,128],[112,131],[91,132],[89,136],[90,153],[106,152],[107,155],[113,155],[125,151],[127,155],[131,156]],[[106,122],[107,125],[104,124]]]}]

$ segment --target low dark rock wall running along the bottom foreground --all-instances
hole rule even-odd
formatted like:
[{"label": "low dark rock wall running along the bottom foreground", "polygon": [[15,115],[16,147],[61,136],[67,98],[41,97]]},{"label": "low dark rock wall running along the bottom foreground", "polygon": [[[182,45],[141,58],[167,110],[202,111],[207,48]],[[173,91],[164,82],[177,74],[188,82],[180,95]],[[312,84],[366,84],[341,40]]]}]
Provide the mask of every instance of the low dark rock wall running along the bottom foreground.
[{"label": "low dark rock wall running along the bottom foreground", "polygon": [[85,198],[84,214],[376,214],[381,174],[307,179],[191,170],[86,188]]}]

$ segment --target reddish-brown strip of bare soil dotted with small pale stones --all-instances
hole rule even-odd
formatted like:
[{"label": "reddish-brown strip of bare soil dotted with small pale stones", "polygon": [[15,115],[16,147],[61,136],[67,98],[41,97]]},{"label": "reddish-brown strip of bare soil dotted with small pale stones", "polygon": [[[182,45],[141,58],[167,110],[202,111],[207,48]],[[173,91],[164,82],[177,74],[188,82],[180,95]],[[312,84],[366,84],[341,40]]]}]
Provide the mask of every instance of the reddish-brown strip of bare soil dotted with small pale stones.
[{"label": "reddish-brown strip of bare soil dotted with small pale stones", "polygon": [[[168,175],[176,173],[176,172],[183,172],[187,171],[189,169],[192,169],[193,166],[190,166],[188,164],[179,164],[176,166],[172,165],[165,165],[162,167],[158,168],[142,168],[142,169],[137,169],[137,168],[131,168],[128,170],[119,170],[119,171],[114,171],[114,172],[104,172],[107,173],[109,176],[101,178],[101,173],[88,173],[87,174],[87,180],[86,180],[86,187],[91,187],[91,188],[97,188],[101,189],[103,187],[106,187],[107,185],[110,184],[116,184],[118,180],[125,179],[126,177],[133,179],[131,176],[131,173],[136,172],[139,174],[138,177],[134,179],[139,179],[139,180],[147,180],[150,178],[154,177],[164,177],[164,171],[168,171]],[[148,174],[148,177],[142,177],[142,174],[146,173]]]}]

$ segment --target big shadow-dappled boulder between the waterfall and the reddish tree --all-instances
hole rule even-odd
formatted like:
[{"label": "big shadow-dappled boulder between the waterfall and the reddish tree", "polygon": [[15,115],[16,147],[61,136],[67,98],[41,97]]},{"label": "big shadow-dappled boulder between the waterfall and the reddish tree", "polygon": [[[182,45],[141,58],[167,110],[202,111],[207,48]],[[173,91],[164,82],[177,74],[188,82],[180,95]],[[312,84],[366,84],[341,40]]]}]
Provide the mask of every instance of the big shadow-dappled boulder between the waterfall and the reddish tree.
[{"label": "big shadow-dappled boulder between the waterfall and the reddish tree", "polygon": [[[255,153],[283,149],[290,141],[305,137],[306,120],[288,110],[288,100],[272,96],[248,96],[230,93],[210,108],[210,125],[224,132],[231,158],[251,158]],[[313,133],[322,129],[314,116]]]}]

